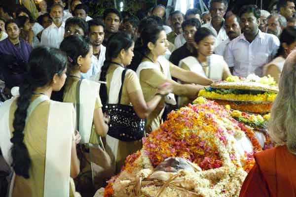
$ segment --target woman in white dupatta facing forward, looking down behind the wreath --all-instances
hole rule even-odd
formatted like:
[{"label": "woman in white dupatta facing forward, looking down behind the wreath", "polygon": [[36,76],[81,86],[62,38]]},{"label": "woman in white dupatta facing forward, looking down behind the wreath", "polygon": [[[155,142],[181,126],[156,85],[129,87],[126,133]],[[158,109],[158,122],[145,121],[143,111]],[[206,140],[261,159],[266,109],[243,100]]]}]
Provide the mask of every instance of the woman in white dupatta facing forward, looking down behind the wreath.
[{"label": "woman in white dupatta facing forward, looking down behind the wreath", "polygon": [[[220,55],[213,54],[215,34],[208,28],[200,28],[194,35],[196,56],[189,56],[180,61],[179,66],[213,80],[224,80],[231,75],[229,68]],[[191,100],[186,97],[179,99],[179,106]]]}]

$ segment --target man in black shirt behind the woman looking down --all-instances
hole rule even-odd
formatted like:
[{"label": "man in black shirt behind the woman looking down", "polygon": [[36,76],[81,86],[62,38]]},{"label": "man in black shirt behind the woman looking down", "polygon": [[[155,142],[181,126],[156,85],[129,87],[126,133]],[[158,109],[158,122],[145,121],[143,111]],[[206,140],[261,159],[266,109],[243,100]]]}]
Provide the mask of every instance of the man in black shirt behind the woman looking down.
[{"label": "man in black shirt behind the woman looking down", "polygon": [[171,63],[173,63],[176,66],[179,66],[179,62],[182,59],[188,56],[194,56],[194,34],[200,28],[200,26],[200,21],[196,18],[185,20],[182,23],[182,29],[186,43],[172,53],[170,57]]}]

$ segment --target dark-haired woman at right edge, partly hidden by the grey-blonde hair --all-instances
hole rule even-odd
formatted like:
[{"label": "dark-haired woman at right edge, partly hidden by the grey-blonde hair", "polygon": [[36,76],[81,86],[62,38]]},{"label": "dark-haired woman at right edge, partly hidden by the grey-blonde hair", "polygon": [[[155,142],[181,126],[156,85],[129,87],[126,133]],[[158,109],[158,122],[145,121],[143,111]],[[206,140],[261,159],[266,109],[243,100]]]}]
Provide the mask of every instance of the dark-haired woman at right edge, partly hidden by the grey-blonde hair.
[{"label": "dark-haired woman at right edge, partly hidden by the grey-blonde hair", "polygon": [[263,67],[263,75],[272,76],[278,83],[280,80],[281,72],[284,67],[287,56],[296,47],[296,27],[285,28],[280,36],[281,46],[278,53],[270,63]]}]

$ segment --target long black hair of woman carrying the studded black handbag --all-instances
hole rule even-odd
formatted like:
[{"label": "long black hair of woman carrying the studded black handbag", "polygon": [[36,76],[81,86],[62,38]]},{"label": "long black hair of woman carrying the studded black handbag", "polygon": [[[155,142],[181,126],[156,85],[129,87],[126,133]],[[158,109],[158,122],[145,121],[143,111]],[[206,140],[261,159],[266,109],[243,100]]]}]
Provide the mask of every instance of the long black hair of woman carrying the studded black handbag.
[{"label": "long black hair of woman carrying the studded black handbag", "polygon": [[[127,51],[133,45],[133,42],[134,41],[131,37],[124,32],[118,32],[111,35],[106,47],[106,59],[101,68],[100,81],[106,81],[106,74],[111,64],[111,59],[117,58],[122,49]],[[102,104],[105,105],[108,99],[107,87],[105,84],[101,84],[100,98],[102,100]]]}]

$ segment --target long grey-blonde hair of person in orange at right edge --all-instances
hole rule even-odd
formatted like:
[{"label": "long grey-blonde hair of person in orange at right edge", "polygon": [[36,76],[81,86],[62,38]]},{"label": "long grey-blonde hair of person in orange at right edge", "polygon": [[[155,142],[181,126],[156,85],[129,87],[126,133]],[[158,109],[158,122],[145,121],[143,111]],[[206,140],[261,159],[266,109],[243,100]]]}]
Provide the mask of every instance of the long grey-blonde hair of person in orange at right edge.
[{"label": "long grey-blonde hair of person in orange at right edge", "polygon": [[276,144],[296,155],[296,51],[285,61],[279,93],[273,102],[268,133]]}]

